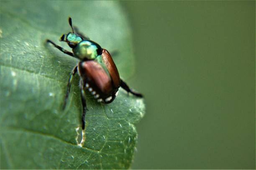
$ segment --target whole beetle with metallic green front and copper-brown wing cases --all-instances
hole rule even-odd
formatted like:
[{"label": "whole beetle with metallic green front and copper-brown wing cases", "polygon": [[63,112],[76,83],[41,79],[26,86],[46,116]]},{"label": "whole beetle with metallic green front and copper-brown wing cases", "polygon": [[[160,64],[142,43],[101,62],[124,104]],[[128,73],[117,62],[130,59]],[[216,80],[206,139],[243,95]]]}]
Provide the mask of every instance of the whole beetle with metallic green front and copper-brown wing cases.
[{"label": "whole beetle with metallic green front and copper-brown wing cases", "polygon": [[[73,68],[69,81],[67,83],[67,93],[64,99],[63,109],[67,105],[70,86],[73,76],[78,72],[80,77],[80,92],[82,100],[82,130],[85,128],[85,115],[87,111],[85,89],[88,89],[98,102],[105,104],[113,102],[118,94],[119,87],[126,92],[137,97],[143,97],[141,93],[131,90],[131,88],[120,79],[117,67],[108,52],[96,42],[84,36],[76,27],[72,26],[72,19],[69,17],[69,25],[72,32],[63,34],[60,41],[67,42],[72,52],[65,50],[63,47],[56,45],[53,41],[47,39],[54,47],[61,50],[67,55],[78,58],[78,64]],[[75,31],[74,31],[75,30]]]}]

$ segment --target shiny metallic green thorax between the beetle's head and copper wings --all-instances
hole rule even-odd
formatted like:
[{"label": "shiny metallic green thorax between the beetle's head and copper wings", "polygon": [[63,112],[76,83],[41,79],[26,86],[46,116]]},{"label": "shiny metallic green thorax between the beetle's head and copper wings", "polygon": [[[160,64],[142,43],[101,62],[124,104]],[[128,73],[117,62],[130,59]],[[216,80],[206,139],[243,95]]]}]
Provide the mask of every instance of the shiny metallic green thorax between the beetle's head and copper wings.
[{"label": "shiny metallic green thorax between the beetle's head and copper wings", "polygon": [[75,57],[83,60],[93,60],[98,56],[98,47],[91,41],[82,40],[79,44],[73,48]]}]

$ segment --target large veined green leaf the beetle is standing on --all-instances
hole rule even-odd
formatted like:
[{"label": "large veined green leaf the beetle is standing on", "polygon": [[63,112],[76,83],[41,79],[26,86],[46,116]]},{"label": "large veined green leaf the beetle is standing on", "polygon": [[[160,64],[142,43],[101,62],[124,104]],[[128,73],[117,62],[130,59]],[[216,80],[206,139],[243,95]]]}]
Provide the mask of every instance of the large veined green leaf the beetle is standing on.
[{"label": "large veined green leaf the beetle is standing on", "polygon": [[134,69],[131,30],[118,2],[1,1],[1,169],[126,169],[137,141],[134,124],[143,117],[142,99],[120,89],[110,104],[87,95],[86,139],[81,136],[79,77],[61,110],[67,82],[78,60],[46,45],[71,31],[67,18],[114,57],[121,77]]}]

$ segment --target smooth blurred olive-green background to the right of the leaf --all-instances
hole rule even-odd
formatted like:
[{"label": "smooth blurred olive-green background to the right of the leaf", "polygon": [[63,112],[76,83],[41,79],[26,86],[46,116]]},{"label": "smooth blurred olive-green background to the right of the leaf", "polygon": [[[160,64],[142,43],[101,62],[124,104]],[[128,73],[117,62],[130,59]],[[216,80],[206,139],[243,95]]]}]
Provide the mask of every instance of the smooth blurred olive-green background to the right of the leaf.
[{"label": "smooth blurred olive-green background to the right of the leaf", "polygon": [[122,1],[146,116],[134,169],[255,169],[255,1]]}]

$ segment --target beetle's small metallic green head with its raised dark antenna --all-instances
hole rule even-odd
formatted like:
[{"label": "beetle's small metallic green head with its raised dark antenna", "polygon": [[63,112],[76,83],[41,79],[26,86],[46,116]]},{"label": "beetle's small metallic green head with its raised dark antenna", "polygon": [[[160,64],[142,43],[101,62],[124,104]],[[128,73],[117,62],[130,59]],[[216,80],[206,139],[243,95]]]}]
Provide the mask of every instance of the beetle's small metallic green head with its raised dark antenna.
[{"label": "beetle's small metallic green head with its raised dark antenna", "polygon": [[69,47],[74,48],[77,44],[82,41],[82,37],[74,33],[74,28],[72,26],[72,19],[69,17],[69,25],[72,28],[72,32],[69,32],[67,35],[63,34],[60,37],[60,41],[65,41],[68,43]]}]

